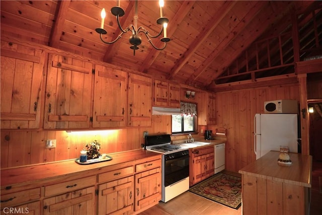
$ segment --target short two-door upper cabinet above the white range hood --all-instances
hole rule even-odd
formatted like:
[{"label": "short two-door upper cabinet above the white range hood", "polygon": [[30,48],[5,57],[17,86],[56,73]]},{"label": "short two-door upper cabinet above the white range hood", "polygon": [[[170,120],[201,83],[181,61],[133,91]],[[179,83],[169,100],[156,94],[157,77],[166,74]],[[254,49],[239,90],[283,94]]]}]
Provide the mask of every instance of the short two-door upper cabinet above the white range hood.
[{"label": "short two-door upper cabinet above the white range hood", "polygon": [[154,80],[154,106],[180,107],[180,87],[164,81]]}]

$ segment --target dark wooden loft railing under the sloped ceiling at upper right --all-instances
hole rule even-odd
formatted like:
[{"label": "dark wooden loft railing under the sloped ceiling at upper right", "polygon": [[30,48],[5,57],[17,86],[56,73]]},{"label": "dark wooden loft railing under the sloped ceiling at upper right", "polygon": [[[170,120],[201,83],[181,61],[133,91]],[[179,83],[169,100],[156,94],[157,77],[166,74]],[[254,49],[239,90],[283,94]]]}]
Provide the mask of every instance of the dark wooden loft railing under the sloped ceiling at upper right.
[{"label": "dark wooden loft railing under the sloped ceiling at upper right", "polygon": [[314,9],[293,20],[294,25],[288,26],[283,33],[253,43],[216,78],[215,83],[294,74],[296,62],[322,55],[322,9]]}]

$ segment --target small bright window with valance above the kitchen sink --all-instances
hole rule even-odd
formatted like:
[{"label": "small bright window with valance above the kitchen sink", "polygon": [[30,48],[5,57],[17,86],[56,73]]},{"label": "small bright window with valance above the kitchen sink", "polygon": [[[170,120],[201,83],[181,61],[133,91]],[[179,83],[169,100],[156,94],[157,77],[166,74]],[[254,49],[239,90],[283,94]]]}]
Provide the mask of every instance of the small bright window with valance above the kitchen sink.
[{"label": "small bright window with valance above the kitchen sink", "polygon": [[172,115],[172,133],[195,132],[196,116],[193,114]]}]

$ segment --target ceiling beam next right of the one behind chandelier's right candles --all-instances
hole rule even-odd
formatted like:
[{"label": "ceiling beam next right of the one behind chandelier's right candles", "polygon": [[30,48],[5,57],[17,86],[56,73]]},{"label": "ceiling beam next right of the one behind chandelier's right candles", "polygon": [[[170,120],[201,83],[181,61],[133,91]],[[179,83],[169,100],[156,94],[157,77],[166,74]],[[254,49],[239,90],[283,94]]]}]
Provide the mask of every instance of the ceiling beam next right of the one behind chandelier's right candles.
[{"label": "ceiling beam next right of the one behind chandelier's right candles", "polygon": [[237,3],[237,1],[227,1],[218,10],[220,13],[215,13],[215,15],[210,19],[209,23],[205,28],[199,33],[192,44],[189,45],[189,49],[183,54],[183,57],[176,63],[176,65],[171,69],[169,74],[169,80],[172,79],[179,70],[186,64],[189,58],[195,53],[199,46],[207,39],[207,37],[213,32],[220,21],[227,15],[230,9]]}]

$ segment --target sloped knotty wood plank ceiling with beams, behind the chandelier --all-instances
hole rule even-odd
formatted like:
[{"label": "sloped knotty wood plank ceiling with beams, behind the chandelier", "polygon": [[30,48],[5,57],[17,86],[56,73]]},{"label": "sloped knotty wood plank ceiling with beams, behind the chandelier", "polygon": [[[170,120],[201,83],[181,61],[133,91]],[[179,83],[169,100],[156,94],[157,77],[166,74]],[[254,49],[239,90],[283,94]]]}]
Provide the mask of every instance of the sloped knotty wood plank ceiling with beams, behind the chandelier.
[{"label": "sloped knotty wood plank ceiling with beams, behind the chandelier", "polygon": [[[104,44],[95,29],[102,8],[107,11],[107,41],[120,33],[110,9],[116,1],[1,1],[1,35],[13,36],[64,51],[81,54],[157,79],[206,89],[251,46],[254,41],[281,34],[291,28],[292,14],[307,13],[319,1],[165,1],[168,17],[166,49],[150,46],[144,35],[133,56],[130,33],[111,45]],[[123,28],[133,23],[134,1],[120,1]],[[157,1],[138,2],[138,26],[158,33]],[[318,25],[320,34],[320,24]],[[318,39],[318,44],[321,38]],[[161,47],[162,43],[153,39]]]}]

